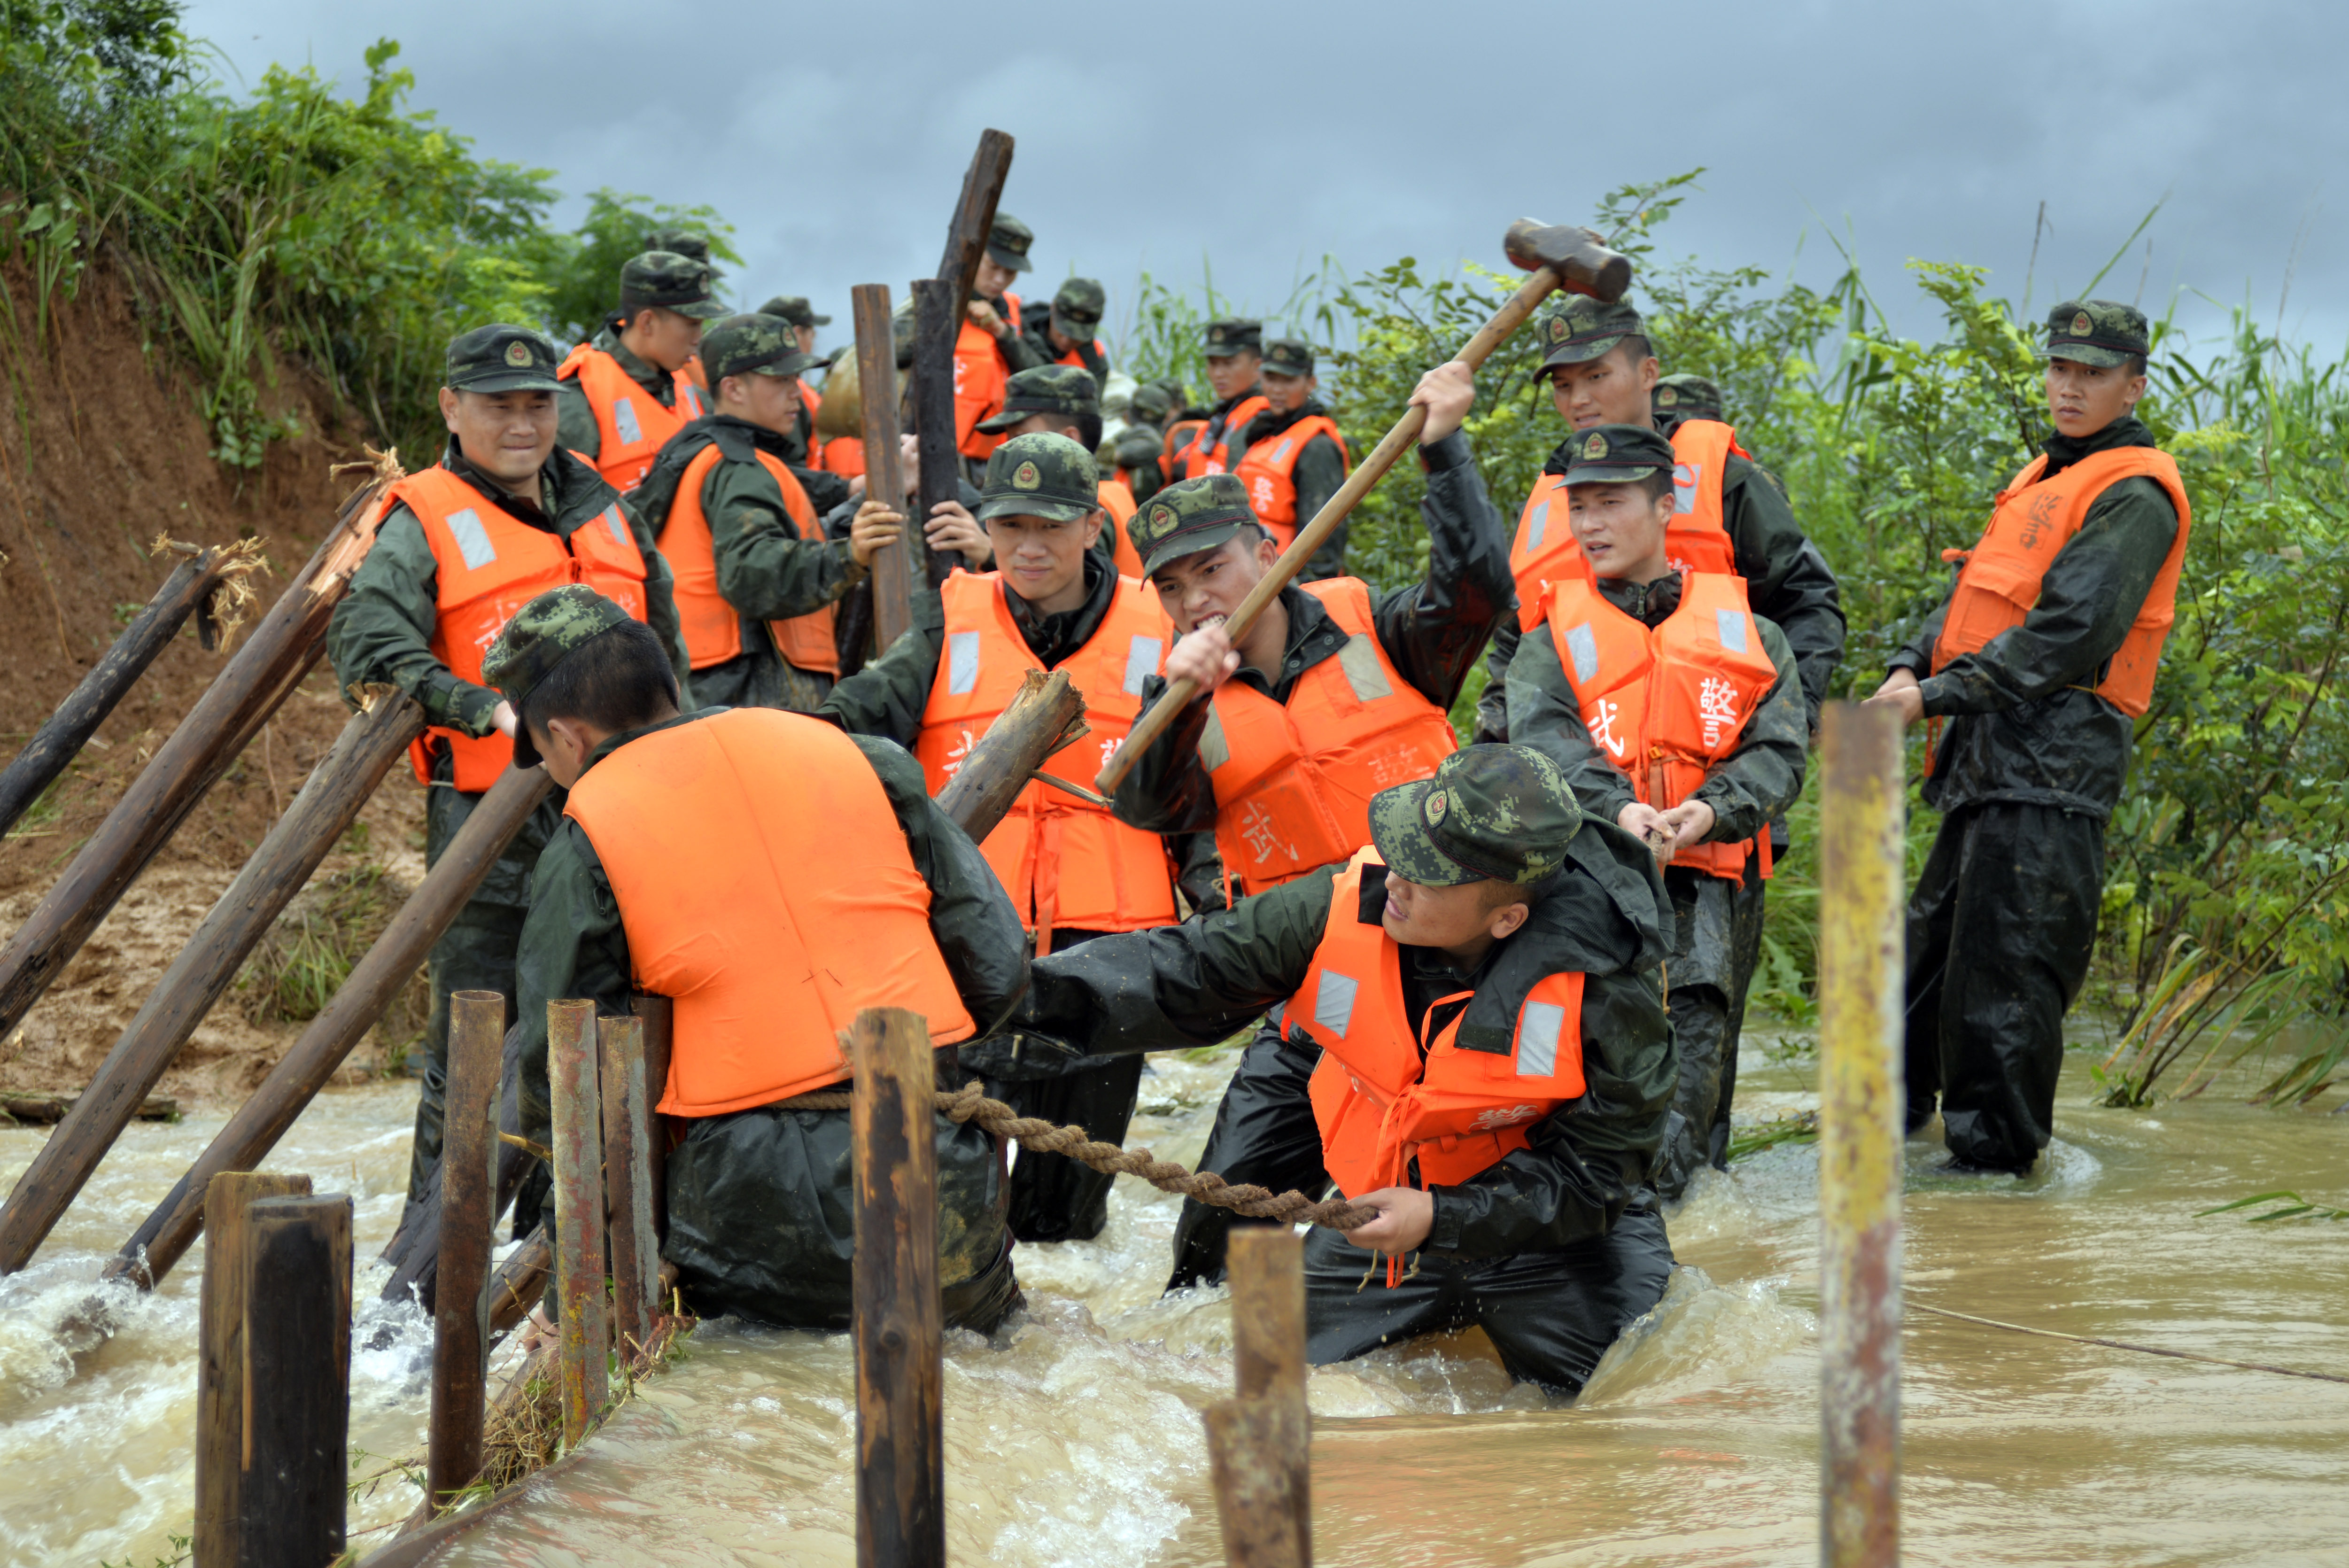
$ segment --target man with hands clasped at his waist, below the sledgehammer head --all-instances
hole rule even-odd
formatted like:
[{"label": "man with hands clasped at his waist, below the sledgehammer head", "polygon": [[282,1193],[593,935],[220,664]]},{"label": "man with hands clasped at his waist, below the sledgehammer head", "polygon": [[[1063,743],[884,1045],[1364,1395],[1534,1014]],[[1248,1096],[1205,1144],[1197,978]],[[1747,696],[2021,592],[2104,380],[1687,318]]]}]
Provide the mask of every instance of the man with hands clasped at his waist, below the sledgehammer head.
[{"label": "man with hands clasped at his waist, below the sledgehammer head", "polygon": [[[1583,543],[1597,595],[1640,625],[1661,628],[1680,611],[1684,585],[1703,581],[1682,576],[1665,557],[1672,442],[1647,425],[1593,425],[1574,440],[1564,473],[1571,512],[1562,522],[1569,522]],[[1621,512],[1611,515],[1609,508]],[[1588,538],[1590,517],[1604,517],[1607,534]],[[1672,1100],[1672,1128],[1665,1135],[1656,1190],[1665,1199],[1680,1199],[1703,1164],[1729,1168],[1729,1103],[1736,1093],[1745,987],[1752,983],[1752,961],[1743,957],[1741,938],[1762,926],[1764,860],[1759,853],[1748,853],[1738,879],[1670,860],[1675,851],[1701,844],[1748,844],[1766,835],[1769,823],[1802,795],[1809,741],[1802,677],[1785,632],[1755,616],[1752,625],[1778,677],[1759,703],[1741,715],[1736,748],[1712,762],[1684,802],[1663,811],[1665,802],[1635,797],[1635,780],[1626,769],[1647,766],[1644,759],[1626,762],[1621,752],[1609,755],[1602,745],[1602,738],[1616,738],[1609,724],[1614,715],[1586,712],[1576,698],[1576,679],[1600,682],[1600,691],[1611,689],[1609,672],[1600,668],[1600,644],[1576,646],[1579,670],[1576,679],[1569,679],[1546,609],[1546,597],[1527,609],[1541,618],[1525,632],[1517,658],[1508,665],[1508,733],[1517,745],[1536,748],[1560,766],[1583,811],[1630,832],[1644,830],[1656,844],[1656,856],[1668,863],[1663,886],[1670,893],[1675,929],[1665,976],[1672,1034],[1680,1041],[1680,1091]],[[1590,637],[1588,621],[1569,630]],[[1607,708],[1604,698],[1600,705]],[[1647,703],[1651,715],[1661,708],[1663,703]],[[1658,738],[1675,741],[1647,736],[1647,748]],[[1694,743],[1696,736],[1677,741]]]}]

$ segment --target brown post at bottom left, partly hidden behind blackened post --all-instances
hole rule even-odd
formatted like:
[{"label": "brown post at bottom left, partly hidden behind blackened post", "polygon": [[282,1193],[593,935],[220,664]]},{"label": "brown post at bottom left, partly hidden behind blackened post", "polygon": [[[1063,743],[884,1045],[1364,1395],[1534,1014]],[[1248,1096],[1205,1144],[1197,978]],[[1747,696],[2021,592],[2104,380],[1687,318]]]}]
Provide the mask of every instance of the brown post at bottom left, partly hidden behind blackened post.
[{"label": "brown post at bottom left, partly hidden behind blackened post", "polygon": [[228,1568],[244,1493],[244,1253],[254,1199],[310,1192],[308,1175],[223,1171],[204,1190],[204,1295],[195,1363],[195,1568]]}]

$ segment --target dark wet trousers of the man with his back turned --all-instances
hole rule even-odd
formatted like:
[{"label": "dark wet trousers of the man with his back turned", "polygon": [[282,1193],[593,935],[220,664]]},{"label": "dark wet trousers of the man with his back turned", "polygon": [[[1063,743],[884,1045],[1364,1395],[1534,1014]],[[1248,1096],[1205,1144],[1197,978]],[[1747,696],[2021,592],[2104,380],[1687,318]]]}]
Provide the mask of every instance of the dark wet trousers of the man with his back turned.
[{"label": "dark wet trousers of the man with his back turned", "polygon": [[[848,1328],[855,1316],[855,1178],[846,1110],[759,1110],[693,1121],[669,1150],[669,1239],[702,1316]],[[947,1328],[991,1331],[1019,1305],[1003,1227],[1003,1150],[937,1117],[937,1284]]]}]

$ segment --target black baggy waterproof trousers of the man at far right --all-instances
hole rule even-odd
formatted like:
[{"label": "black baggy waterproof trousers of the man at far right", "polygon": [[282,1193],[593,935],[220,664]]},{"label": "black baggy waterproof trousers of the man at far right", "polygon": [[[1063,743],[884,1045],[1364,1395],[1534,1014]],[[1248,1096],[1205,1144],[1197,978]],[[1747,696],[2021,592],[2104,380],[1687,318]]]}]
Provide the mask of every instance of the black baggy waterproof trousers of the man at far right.
[{"label": "black baggy waterproof trousers of the man at far right", "polygon": [[1943,818],[1907,910],[1907,1124],[2025,1171],[2055,1131],[2062,1016],[2088,978],[2105,823],[1987,802]]}]

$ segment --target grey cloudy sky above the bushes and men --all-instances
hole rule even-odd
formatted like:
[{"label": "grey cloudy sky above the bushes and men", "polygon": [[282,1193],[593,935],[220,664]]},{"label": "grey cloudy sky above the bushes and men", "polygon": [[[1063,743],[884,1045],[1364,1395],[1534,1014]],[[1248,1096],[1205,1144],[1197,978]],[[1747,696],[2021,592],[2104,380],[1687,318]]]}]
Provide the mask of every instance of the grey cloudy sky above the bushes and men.
[{"label": "grey cloudy sky above the bushes and men", "polygon": [[[1600,16],[1611,21],[1600,24]],[[1266,308],[1301,268],[1395,256],[1499,266],[1515,216],[1581,221],[1611,186],[1708,167],[1668,247],[1828,282],[1851,235],[1905,331],[1910,256],[2074,289],[2163,202],[2100,294],[2225,327],[2225,306],[2335,353],[2349,233],[2349,7],[2095,5],[742,5],[568,0],[399,7],[197,0],[188,26],[247,82],[310,61],[345,82],[399,38],[420,108],[479,150],[707,202],[745,303],[937,266],[980,129],[1017,136],[1005,209],[1045,280],[1149,268]],[[2297,259],[2295,259],[2297,256]],[[1048,292],[1048,289],[1045,289]],[[2192,292],[2220,308],[2192,303]]]}]

